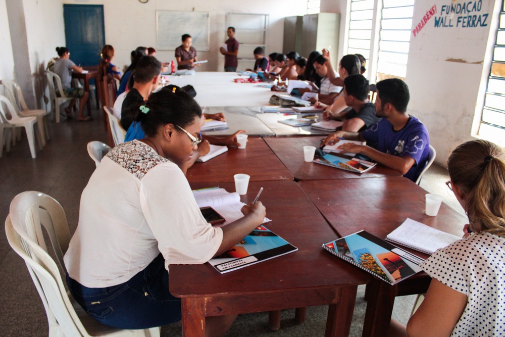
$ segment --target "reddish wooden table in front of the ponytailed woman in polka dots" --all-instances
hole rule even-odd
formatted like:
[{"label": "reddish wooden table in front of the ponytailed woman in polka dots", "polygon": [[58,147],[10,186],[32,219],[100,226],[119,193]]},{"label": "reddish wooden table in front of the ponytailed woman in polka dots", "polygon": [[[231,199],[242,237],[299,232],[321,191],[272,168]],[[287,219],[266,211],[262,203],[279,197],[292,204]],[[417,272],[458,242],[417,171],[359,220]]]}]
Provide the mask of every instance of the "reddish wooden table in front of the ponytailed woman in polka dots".
[{"label": "reddish wooden table in front of the ponytailed woman in polka dots", "polygon": [[[403,177],[370,179],[307,180],[298,184],[316,205],[333,229],[345,236],[364,229],[385,238],[406,218],[442,231],[463,235],[463,215],[446,204],[436,217],[427,216],[426,191]],[[406,249],[427,258],[426,254]],[[367,285],[367,312],[363,336],[386,335],[395,296],[425,293],[431,278],[424,272],[394,286],[373,278]]]}]

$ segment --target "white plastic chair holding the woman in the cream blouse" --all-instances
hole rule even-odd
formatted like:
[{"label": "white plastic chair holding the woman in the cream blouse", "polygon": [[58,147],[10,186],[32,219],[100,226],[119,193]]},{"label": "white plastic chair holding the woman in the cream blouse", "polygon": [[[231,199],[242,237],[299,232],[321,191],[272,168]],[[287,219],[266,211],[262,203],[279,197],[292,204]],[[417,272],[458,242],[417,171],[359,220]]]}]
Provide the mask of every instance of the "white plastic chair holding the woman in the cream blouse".
[{"label": "white plastic chair holding the woman in the cream blouse", "polygon": [[16,196],[6,219],[6,234],[12,249],[26,263],[44,304],[49,336],[157,336],[160,328],[123,330],[95,321],[68,294],[56,262],[47,253],[42,226],[47,230],[63,270],[63,255],[70,242],[65,212],[53,198],[35,191]]}]

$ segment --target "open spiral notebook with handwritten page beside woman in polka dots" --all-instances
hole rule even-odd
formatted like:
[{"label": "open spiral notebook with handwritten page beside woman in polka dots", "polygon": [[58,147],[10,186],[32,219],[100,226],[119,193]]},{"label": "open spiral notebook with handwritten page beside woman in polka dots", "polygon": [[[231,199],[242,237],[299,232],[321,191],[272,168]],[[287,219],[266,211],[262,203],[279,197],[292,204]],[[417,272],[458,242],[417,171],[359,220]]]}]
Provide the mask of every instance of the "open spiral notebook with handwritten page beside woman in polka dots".
[{"label": "open spiral notebook with handwritten page beside woman in polka dots", "polygon": [[433,254],[461,237],[452,235],[424,223],[407,218],[398,228],[386,236],[386,240],[426,254]]}]

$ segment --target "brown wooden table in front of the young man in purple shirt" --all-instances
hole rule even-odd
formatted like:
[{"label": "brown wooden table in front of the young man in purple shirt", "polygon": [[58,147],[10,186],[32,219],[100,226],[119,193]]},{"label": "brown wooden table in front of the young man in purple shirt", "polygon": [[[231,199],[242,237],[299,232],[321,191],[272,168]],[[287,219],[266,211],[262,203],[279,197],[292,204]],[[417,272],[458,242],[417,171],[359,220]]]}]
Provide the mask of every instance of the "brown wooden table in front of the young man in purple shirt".
[{"label": "brown wooden table in front of the young man in purple shirt", "polygon": [[296,180],[370,178],[401,176],[398,171],[377,165],[368,172],[359,174],[337,168],[307,163],[304,161],[304,146],[320,146],[324,136],[265,137],[264,140]]}]

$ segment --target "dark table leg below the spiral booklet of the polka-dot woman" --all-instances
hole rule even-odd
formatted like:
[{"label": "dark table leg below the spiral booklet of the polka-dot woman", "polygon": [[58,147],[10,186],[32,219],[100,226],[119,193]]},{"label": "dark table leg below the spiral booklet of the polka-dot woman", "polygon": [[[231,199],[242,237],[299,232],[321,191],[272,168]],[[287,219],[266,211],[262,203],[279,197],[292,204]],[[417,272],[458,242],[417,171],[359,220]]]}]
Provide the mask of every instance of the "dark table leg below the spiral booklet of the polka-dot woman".
[{"label": "dark table leg below the spiral booklet of the polka-dot woman", "polygon": [[385,336],[391,322],[397,285],[390,285],[374,278],[367,284],[368,287],[370,287],[370,298],[367,303],[362,336]]}]

